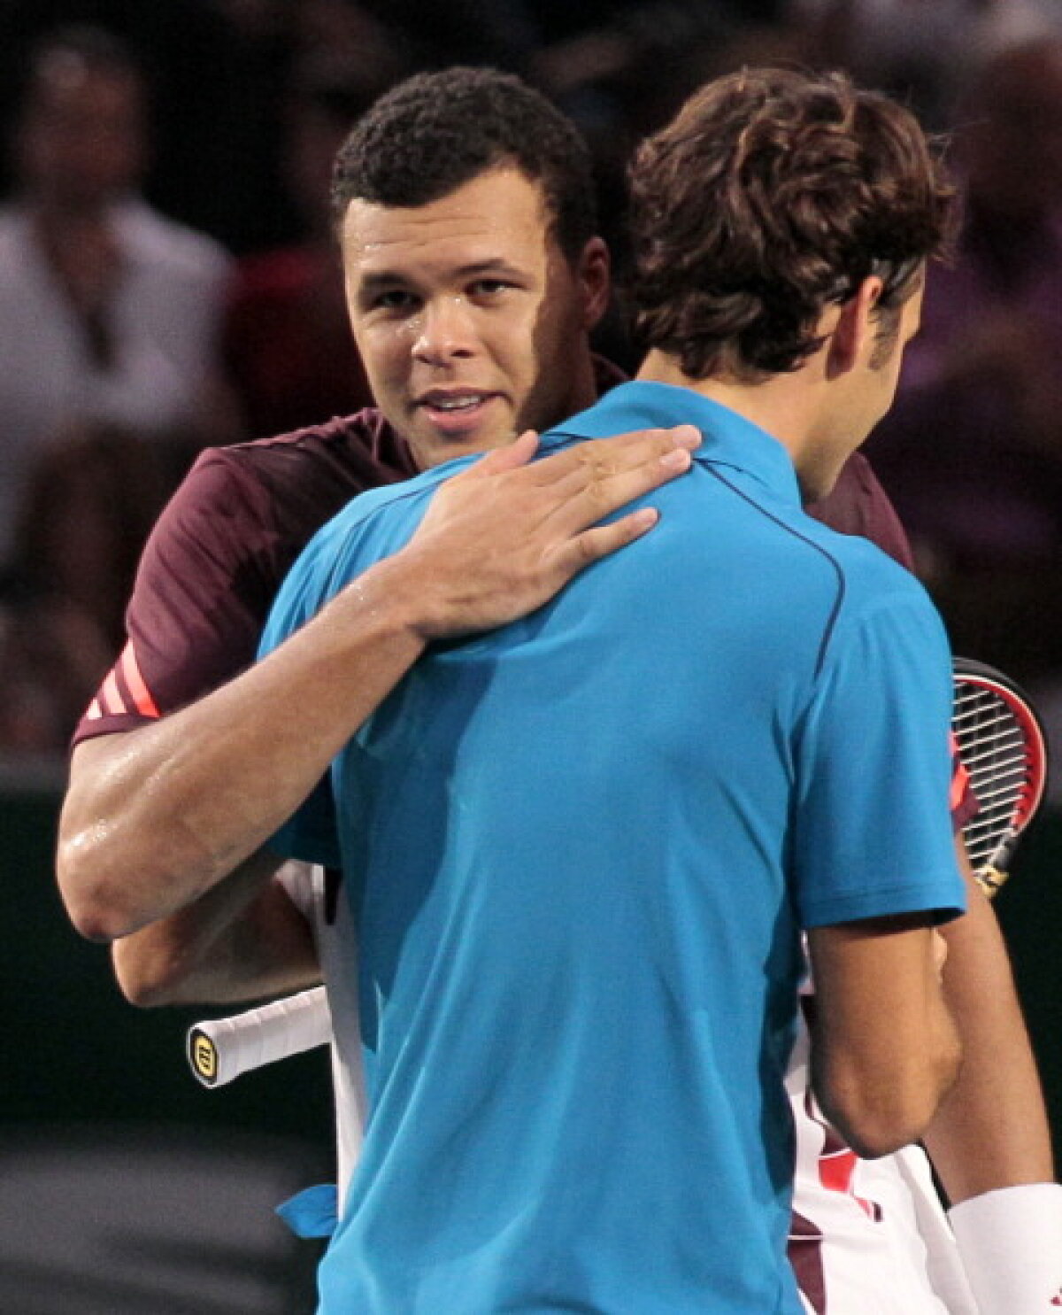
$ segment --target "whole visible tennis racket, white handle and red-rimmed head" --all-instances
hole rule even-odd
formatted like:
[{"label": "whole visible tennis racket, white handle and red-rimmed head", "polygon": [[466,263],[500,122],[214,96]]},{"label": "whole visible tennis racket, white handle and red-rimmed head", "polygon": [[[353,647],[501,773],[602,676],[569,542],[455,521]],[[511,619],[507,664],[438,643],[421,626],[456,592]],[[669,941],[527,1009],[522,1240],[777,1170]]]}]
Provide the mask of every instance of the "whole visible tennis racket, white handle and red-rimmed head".
[{"label": "whole visible tennis racket, white handle and red-rimmed head", "polygon": [[[1002,672],[966,658],[954,661],[952,731],[979,805],[962,835],[974,874],[991,897],[1007,880],[1017,842],[1044,801],[1046,738],[1028,696]],[[223,1086],[248,1069],[329,1040],[329,1001],[317,986],[196,1023],[188,1032],[188,1061],[204,1086]]]}]

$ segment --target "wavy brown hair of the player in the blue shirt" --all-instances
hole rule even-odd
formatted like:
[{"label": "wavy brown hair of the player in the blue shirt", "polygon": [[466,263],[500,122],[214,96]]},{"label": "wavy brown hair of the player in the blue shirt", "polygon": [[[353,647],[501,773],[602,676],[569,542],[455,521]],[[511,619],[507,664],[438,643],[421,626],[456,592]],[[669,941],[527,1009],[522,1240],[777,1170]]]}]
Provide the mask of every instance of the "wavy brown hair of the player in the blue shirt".
[{"label": "wavy brown hair of the player in the blue shirt", "polygon": [[840,72],[743,70],[702,87],[630,167],[645,346],[691,379],[794,371],[823,310],[879,275],[895,331],[954,233],[954,188],[915,117]]}]

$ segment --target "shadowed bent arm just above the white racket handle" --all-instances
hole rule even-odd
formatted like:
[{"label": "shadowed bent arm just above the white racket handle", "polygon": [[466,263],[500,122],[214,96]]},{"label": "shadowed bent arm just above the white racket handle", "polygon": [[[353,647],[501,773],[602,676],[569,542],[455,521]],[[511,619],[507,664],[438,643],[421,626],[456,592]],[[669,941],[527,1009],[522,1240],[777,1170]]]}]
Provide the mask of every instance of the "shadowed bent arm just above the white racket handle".
[{"label": "shadowed bent arm just above the white racket handle", "polygon": [[[254,855],[205,896],[112,944],[133,1005],[225,1005],[287,994],[321,980],[310,923]],[[271,880],[272,878],[272,880]]]}]

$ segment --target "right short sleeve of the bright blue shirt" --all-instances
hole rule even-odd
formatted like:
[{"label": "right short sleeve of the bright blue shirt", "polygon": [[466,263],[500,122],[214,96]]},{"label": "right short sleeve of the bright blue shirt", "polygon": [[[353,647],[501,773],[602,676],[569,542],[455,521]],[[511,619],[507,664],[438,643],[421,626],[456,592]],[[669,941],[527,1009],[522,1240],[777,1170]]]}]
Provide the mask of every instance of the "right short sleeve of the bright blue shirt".
[{"label": "right short sleeve of the bright blue shirt", "polygon": [[963,910],[950,714],[948,642],[920,586],[839,623],[799,735],[791,856],[804,927]]}]

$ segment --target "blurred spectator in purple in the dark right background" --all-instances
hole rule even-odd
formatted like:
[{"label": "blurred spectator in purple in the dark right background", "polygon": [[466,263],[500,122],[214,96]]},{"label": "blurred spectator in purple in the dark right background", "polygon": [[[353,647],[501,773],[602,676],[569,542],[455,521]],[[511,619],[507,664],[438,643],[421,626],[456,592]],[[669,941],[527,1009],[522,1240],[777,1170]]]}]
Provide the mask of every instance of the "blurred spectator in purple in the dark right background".
[{"label": "blurred spectator in purple in the dark right background", "polygon": [[1062,38],[991,55],[957,126],[966,217],[867,451],[958,650],[1062,667]]}]

